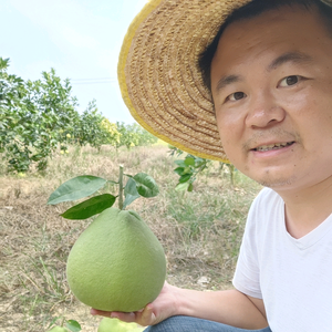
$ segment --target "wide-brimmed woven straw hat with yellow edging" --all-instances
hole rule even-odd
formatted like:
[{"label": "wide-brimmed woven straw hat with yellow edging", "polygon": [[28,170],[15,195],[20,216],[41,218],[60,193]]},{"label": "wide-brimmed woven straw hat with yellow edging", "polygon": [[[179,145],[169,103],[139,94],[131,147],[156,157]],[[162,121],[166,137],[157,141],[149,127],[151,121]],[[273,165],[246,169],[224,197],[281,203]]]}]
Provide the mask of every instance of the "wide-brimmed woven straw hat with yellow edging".
[{"label": "wide-brimmed woven straw hat with yellow edging", "polygon": [[227,162],[198,68],[227,15],[250,0],[152,0],[131,24],[118,62],[123,98],[148,132],[189,154]]}]

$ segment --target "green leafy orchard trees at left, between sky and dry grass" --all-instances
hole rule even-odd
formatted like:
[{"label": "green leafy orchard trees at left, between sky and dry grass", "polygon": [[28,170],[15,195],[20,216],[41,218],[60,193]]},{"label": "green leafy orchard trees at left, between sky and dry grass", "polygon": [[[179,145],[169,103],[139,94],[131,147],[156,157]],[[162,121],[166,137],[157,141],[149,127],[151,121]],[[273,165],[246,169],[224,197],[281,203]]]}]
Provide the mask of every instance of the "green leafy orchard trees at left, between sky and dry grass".
[{"label": "green leafy orchard trees at left, between sky and dry grass", "polygon": [[27,172],[34,163],[43,170],[52,153],[59,146],[68,152],[69,143],[116,145],[115,124],[98,113],[95,101],[81,115],[70,81],[62,81],[54,69],[24,82],[8,68],[9,59],[0,58],[0,153],[9,172]]}]

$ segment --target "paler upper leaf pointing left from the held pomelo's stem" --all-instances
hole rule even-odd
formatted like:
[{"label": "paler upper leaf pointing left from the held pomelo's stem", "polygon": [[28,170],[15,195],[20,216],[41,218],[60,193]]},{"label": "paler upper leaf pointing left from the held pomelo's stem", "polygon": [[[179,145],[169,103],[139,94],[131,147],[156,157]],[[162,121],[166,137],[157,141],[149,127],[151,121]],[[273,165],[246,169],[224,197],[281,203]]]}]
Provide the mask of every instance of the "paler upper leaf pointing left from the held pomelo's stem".
[{"label": "paler upper leaf pointing left from the held pomelo's stem", "polygon": [[107,180],[101,177],[84,175],[74,177],[62,184],[49,198],[49,205],[76,200],[90,196],[101,189]]}]

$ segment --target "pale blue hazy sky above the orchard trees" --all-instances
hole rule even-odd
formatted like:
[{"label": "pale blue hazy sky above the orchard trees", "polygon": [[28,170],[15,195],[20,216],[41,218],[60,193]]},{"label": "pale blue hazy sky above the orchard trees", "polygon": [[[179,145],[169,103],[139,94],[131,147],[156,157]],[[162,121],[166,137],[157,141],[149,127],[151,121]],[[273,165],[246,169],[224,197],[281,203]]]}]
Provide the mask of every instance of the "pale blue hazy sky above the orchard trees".
[{"label": "pale blue hazy sky above the orchard trees", "polygon": [[146,0],[0,0],[0,56],[8,72],[39,80],[51,68],[70,79],[79,112],[96,100],[111,122],[134,123],[117,83],[127,28]]}]

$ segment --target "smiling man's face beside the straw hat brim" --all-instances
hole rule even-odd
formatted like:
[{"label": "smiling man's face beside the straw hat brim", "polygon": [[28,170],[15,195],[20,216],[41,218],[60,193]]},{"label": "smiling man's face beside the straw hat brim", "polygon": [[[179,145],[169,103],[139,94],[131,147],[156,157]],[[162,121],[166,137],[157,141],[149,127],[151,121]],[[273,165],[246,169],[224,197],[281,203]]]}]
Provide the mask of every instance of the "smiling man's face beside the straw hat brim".
[{"label": "smiling man's face beside the straw hat brim", "polygon": [[227,156],[277,191],[332,179],[332,37],[319,20],[284,7],[232,23],[211,63]]}]

